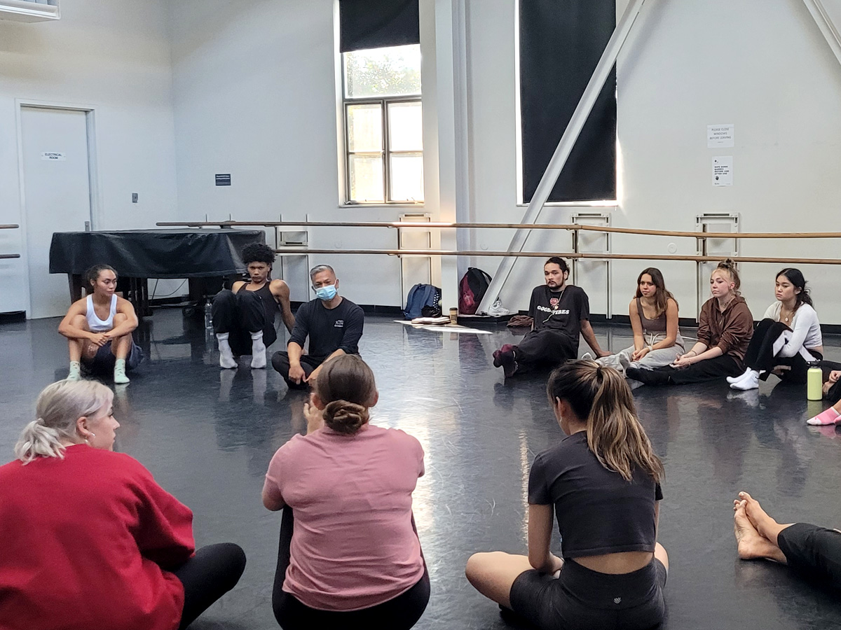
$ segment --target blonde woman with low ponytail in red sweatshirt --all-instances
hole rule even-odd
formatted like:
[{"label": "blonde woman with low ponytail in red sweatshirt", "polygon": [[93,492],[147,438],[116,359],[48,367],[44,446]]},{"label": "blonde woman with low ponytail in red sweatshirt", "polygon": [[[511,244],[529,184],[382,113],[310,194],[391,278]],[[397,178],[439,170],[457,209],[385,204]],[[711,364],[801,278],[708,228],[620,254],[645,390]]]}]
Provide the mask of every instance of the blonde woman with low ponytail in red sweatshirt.
[{"label": "blonde woman with low ponytail in red sweatshirt", "polygon": [[3,630],[185,628],[245,570],[235,544],[196,551],[193,512],[112,452],[113,397],[96,381],[47,386],[0,466]]}]

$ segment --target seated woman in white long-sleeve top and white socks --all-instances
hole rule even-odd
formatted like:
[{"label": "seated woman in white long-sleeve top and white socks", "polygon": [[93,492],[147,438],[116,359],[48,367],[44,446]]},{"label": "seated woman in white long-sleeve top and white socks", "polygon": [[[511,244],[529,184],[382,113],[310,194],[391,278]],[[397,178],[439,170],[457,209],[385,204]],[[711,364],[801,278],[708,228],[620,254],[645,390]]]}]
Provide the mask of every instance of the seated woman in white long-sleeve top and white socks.
[{"label": "seated woman in white long-sleeve top and white socks", "polygon": [[727,377],[734,390],[753,390],[772,372],[785,381],[805,383],[809,363],[823,359],[821,324],[799,269],[776,276],[777,301],[756,325],[745,354],[744,374]]}]

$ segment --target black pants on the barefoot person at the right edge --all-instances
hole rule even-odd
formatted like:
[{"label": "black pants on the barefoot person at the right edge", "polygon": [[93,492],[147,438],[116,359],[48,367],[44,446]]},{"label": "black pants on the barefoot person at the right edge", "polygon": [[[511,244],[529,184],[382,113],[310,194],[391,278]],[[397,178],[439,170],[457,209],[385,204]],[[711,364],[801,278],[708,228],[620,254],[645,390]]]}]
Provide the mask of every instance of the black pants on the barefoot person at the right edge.
[{"label": "black pants on the barefoot person at the right edge", "polygon": [[780,532],[777,546],[793,570],[841,589],[841,533],[796,522]]}]

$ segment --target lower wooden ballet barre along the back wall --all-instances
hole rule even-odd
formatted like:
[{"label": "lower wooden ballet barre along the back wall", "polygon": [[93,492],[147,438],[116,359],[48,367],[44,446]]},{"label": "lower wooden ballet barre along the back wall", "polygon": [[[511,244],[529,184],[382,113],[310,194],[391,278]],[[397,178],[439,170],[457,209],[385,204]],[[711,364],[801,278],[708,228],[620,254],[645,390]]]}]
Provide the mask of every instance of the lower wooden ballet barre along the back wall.
[{"label": "lower wooden ballet barre along the back wall", "polygon": [[357,254],[357,255],[389,255],[389,256],[514,256],[516,258],[562,258],[578,260],[685,260],[690,262],[717,262],[733,260],[733,262],[762,262],[783,265],[841,265],[838,258],[764,258],[760,256],[685,256],[668,254],[581,254],[574,252],[547,251],[450,251],[445,249],[305,249],[282,248],[275,249],[275,253],[284,255],[302,254]]}]

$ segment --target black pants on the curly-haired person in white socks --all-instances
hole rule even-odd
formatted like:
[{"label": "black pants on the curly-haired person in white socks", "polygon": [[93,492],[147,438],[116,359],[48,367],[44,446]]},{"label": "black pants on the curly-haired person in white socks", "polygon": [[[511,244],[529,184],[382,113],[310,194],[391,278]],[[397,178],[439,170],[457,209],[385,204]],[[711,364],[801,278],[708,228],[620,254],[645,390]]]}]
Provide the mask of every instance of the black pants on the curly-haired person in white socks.
[{"label": "black pants on the curly-haired person in white socks", "polygon": [[278,339],[274,318],[268,321],[266,307],[257,291],[240,289],[235,293],[223,289],[213,298],[210,317],[214,333],[229,333],[230,349],[239,356],[251,354],[251,333],[262,330],[263,344],[267,348]]}]

